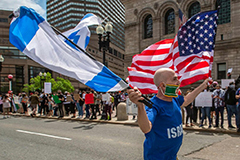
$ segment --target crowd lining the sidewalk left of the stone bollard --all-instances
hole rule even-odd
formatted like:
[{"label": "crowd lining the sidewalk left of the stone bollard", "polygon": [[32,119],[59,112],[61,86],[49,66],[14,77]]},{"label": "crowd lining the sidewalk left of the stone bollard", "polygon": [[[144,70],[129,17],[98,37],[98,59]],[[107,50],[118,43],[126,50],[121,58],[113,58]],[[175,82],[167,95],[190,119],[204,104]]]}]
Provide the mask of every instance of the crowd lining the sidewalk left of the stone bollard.
[{"label": "crowd lining the sidewalk left of the stone bollard", "polygon": [[0,94],[0,113],[4,119],[10,117],[11,112],[19,112],[32,117],[40,115],[59,119],[64,116],[97,119],[97,115],[101,115],[101,119],[111,120],[117,105],[125,102],[126,98],[125,92],[99,93],[91,89],[74,93],[62,93],[61,90],[53,94],[34,92],[29,95],[13,94],[10,91],[4,95]]}]

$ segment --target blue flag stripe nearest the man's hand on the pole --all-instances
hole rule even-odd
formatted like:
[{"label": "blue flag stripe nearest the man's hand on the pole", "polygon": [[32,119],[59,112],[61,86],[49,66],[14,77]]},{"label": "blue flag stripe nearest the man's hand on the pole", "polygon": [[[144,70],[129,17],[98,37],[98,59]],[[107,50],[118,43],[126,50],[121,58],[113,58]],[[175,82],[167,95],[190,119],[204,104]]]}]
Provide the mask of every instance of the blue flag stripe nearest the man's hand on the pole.
[{"label": "blue flag stripe nearest the man's hand on the pole", "polygon": [[107,92],[121,80],[122,79],[120,77],[115,75],[106,66],[104,66],[102,71],[99,72],[91,81],[88,81],[85,85],[96,91]]}]

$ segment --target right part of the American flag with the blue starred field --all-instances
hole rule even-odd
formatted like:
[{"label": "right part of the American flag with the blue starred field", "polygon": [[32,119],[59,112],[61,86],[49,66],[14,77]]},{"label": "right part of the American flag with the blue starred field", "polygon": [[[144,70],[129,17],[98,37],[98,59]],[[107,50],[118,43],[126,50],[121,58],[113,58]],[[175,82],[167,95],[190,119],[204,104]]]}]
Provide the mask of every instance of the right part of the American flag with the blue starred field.
[{"label": "right part of the American flag with the blue starred field", "polygon": [[178,31],[170,48],[180,87],[211,77],[217,11],[191,17]]}]

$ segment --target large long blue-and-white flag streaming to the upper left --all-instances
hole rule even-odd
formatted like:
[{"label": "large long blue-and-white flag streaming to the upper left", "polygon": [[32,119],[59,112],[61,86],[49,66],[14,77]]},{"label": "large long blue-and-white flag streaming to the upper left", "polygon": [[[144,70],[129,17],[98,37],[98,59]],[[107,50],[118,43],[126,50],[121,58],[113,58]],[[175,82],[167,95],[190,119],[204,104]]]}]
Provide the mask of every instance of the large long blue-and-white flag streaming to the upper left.
[{"label": "large long blue-and-white flag streaming to the upper left", "polygon": [[14,13],[19,16],[11,22],[9,40],[32,60],[95,91],[120,91],[128,87],[102,63],[66,44],[33,9],[22,6]]}]

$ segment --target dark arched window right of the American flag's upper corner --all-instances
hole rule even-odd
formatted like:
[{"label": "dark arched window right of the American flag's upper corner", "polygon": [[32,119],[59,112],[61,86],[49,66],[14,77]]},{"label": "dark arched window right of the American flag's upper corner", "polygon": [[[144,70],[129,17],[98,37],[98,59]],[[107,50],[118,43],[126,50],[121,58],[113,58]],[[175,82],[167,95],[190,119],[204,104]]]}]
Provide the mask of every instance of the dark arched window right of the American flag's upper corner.
[{"label": "dark arched window right of the American flag's upper corner", "polygon": [[220,9],[218,12],[218,24],[224,24],[231,22],[231,7],[230,0],[221,0],[221,4],[216,2],[216,9],[220,5]]}]

